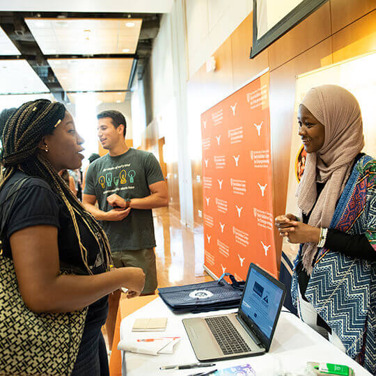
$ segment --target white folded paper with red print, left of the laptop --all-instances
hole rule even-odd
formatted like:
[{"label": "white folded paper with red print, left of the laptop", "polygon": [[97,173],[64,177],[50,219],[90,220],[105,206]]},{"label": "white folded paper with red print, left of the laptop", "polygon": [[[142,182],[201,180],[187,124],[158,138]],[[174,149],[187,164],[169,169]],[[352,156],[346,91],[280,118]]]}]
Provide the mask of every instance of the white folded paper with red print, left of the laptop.
[{"label": "white folded paper with red print, left of the laptop", "polygon": [[118,350],[148,355],[173,354],[174,347],[179,340],[179,337],[148,338],[148,340],[120,340]]}]

